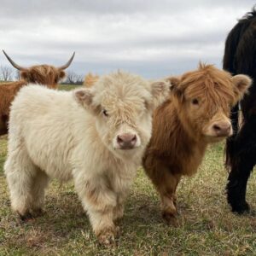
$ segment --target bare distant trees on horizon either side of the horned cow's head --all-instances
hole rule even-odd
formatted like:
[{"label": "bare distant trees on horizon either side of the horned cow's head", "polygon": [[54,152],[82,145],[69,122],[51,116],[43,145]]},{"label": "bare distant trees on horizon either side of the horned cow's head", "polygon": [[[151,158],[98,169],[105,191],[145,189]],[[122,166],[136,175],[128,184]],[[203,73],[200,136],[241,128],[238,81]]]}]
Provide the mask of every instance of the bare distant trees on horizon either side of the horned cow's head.
[{"label": "bare distant trees on horizon either side of the horned cow's head", "polygon": [[[20,72],[14,71],[13,68],[8,66],[0,66],[0,81],[8,82],[20,80]],[[67,71],[66,79],[61,82],[61,84],[83,84],[84,77],[75,73],[74,71]]]}]

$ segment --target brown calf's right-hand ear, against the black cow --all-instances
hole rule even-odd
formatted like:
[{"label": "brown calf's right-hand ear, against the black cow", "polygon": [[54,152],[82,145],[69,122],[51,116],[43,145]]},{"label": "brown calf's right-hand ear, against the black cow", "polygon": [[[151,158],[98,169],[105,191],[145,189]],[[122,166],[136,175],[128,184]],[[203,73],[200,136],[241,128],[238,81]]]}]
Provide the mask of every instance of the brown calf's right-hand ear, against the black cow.
[{"label": "brown calf's right-hand ear, against the black cow", "polygon": [[250,79],[247,75],[239,74],[232,77],[232,82],[235,85],[235,94],[237,97],[237,101],[239,101],[242,96],[247,93],[247,90],[253,83],[253,80]]}]

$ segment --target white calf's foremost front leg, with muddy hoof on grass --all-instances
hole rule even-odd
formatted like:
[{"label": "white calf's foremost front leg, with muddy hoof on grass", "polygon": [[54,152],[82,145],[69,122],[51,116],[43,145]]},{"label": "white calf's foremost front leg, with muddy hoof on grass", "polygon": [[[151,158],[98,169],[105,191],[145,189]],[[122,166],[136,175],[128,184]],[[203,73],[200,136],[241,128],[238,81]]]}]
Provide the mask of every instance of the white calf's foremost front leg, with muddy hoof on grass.
[{"label": "white calf's foremost front leg, with muddy hoof on grass", "polygon": [[113,224],[113,209],[117,205],[117,196],[103,180],[83,182],[82,178],[75,178],[75,188],[99,241],[105,245],[113,243],[118,231]]}]

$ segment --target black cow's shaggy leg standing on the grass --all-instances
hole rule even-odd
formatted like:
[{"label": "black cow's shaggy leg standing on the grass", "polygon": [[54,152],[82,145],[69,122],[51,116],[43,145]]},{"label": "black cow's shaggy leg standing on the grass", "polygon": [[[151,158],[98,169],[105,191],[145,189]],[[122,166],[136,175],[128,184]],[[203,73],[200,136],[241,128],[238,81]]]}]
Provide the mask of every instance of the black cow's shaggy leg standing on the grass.
[{"label": "black cow's shaggy leg standing on the grass", "polygon": [[247,212],[247,180],[253,171],[256,159],[256,137],[252,126],[243,125],[236,137],[235,148],[231,155],[231,172],[227,184],[227,197],[232,212]]}]

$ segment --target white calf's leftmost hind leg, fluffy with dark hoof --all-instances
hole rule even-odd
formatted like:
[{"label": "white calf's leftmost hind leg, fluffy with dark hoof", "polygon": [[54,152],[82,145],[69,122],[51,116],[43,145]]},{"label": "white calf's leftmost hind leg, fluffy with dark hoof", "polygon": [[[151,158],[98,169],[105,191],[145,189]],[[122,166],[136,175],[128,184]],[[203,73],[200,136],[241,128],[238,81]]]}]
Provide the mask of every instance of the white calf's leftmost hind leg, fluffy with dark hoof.
[{"label": "white calf's leftmost hind leg, fluffy with dark hoof", "polygon": [[4,170],[9,185],[12,208],[18,212],[21,219],[29,217],[32,206],[32,183],[37,172],[26,148],[15,148],[9,152]]}]

